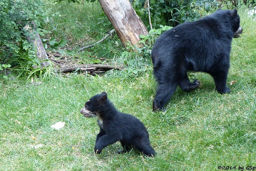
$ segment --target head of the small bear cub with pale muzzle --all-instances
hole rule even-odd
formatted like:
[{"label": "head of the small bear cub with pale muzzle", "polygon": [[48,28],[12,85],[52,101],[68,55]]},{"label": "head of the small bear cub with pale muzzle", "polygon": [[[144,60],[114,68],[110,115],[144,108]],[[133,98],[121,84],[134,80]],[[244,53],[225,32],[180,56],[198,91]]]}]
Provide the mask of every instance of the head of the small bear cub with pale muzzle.
[{"label": "head of the small bear cub with pale muzzle", "polygon": [[106,108],[108,95],[106,92],[91,97],[80,110],[84,117],[97,117]]}]

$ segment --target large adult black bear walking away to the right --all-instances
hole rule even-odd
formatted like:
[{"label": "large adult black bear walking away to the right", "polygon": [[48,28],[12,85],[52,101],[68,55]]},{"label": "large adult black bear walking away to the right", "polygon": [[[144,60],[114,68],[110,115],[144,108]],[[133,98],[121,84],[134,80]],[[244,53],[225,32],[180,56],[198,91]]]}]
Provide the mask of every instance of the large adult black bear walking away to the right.
[{"label": "large adult black bear walking away to the right", "polygon": [[200,86],[190,82],[187,71],[212,75],[218,92],[230,93],[226,87],[232,38],[242,28],[237,10],[217,10],[198,21],[180,24],[156,40],[151,52],[154,75],[158,82],[153,110],[164,110],[177,86],[191,91]]}]

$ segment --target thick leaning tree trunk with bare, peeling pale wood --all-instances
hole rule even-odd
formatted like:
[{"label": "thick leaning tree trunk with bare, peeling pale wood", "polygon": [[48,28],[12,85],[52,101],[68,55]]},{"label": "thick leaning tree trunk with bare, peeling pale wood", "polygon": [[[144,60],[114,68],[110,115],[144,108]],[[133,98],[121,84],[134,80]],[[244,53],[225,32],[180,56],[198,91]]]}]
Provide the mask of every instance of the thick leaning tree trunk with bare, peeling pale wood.
[{"label": "thick leaning tree trunk with bare, peeling pale wood", "polygon": [[[140,35],[148,35],[148,30],[136,14],[129,0],[99,0],[100,5],[112,23],[121,42],[126,45],[138,44]],[[141,46],[143,46],[141,44]]]}]

